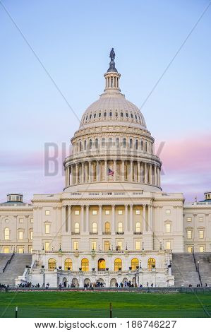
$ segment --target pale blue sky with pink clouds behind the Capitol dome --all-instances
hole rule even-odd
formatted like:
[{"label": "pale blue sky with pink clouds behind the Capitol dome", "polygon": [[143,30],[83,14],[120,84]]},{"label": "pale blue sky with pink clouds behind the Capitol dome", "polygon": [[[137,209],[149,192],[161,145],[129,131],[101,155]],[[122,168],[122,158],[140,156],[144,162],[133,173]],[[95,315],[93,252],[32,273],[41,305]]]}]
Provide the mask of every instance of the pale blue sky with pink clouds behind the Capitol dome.
[{"label": "pale blue sky with pink clouds behind the Capitol dome", "polygon": [[[13,191],[30,201],[63,190],[62,159],[103,92],[111,47],[122,93],[143,105],[163,190],[186,201],[211,190],[210,1],[1,2],[1,202]],[[45,143],[59,150],[54,176],[44,174]]]}]

